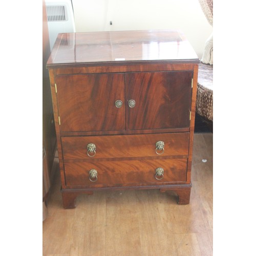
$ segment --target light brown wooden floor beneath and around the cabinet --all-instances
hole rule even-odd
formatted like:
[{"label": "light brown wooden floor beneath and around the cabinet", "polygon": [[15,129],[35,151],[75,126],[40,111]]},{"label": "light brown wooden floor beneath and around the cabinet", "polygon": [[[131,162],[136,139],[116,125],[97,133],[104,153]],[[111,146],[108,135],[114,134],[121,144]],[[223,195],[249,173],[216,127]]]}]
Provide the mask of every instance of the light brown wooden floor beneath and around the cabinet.
[{"label": "light brown wooden floor beneath and around the cabinet", "polygon": [[56,175],[43,255],[212,255],[212,133],[195,134],[192,185],[189,205],[172,192],[99,191],[65,210]]}]

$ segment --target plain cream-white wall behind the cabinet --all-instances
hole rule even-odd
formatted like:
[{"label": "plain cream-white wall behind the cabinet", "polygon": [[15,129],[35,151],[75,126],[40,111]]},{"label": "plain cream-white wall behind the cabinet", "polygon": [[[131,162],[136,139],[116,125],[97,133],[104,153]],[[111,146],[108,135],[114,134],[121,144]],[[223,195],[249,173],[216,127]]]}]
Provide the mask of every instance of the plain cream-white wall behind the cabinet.
[{"label": "plain cream-white wall behind the cabinet", "polygon": [[[198,0],[72,0],[76,32],[180,29],[201,58],[212,27]],[[112,21],[112,25],[110,25]]]}]

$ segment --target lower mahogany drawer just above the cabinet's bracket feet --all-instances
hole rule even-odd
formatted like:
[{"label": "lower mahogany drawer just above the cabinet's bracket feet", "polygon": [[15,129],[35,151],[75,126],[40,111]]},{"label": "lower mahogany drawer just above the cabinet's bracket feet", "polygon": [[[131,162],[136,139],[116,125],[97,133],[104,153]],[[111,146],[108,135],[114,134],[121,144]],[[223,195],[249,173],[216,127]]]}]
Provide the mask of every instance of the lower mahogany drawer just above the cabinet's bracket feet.
[{"label": "lower mahogany drawer just above the cabinet's bracket feet", "polygon": [[[93,161],[65,163],[67,186],[120,187],[185,182],[187,159]],[[156,169],[163,168],[162,176]],[[97,180],[90,170],[97,171]],[[90,178],[92,181],[90,181]],[[96,180],[96,181],[95,181]]]}]

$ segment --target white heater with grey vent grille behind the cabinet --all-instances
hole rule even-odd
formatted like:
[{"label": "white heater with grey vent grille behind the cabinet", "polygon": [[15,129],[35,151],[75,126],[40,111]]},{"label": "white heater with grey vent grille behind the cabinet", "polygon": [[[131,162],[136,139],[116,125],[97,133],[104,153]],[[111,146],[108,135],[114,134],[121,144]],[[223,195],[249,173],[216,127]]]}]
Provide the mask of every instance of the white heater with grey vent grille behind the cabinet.
[{"label": "white heater with grey vent grille behind the cabinet", "polygon": [[46,0],[46,12],[52,50],[58,33],[75,32],[72,0]]}]

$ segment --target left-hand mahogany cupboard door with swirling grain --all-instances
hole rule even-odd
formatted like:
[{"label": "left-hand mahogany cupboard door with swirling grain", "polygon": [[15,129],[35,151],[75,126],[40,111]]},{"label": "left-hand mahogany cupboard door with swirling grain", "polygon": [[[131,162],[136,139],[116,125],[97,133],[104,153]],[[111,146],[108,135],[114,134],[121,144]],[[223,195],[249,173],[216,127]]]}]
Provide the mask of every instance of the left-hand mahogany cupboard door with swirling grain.
[{"label": "left-hand mahogany cupboard door with swirling grain", "polygon": [[125,129],[123,74],[76,74],[55,77],[61,132]]}]

